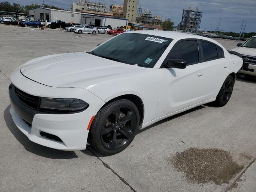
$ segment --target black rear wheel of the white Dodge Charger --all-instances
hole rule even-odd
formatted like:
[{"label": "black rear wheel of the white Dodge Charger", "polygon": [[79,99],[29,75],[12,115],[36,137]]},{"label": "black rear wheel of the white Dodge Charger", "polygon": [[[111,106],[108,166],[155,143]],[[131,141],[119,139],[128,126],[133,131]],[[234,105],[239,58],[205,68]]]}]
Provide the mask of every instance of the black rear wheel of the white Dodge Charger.
[{"label": "black rear wheel of the white Dodge Charger", "polygon": [[215,104],[218,107],[223,107],[226,105],[232,95],[234,88],[234,78],[232,76],[228,76],[224,83],[220,88],[220,92],[218,93]]}]

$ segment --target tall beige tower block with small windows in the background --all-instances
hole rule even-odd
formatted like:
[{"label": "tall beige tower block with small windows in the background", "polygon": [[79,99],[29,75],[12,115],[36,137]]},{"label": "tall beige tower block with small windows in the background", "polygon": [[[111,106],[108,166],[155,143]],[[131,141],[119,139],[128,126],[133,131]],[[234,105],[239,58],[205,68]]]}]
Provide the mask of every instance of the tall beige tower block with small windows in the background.
[{"label": "tall beige tower block with small windows in the background", "polygon": [[123,18],[126,18],[131,23],[136,22],[137,18],[138,0],[124,0],[124,14]]}]

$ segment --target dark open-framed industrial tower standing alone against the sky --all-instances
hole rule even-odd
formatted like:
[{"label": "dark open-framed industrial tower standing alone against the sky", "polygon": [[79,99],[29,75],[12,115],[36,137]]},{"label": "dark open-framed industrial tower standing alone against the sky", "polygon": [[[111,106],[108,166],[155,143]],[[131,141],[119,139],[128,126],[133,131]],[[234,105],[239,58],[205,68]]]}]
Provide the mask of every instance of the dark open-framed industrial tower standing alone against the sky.
[{"label": "dark open-framed industrial tower standing alone against the sky", "polygon": [[178,24],[178,30],[183,32],[198,33],[200,29],[200,23],[202,19],[202,12],[196,8],[192,10],[191,7],[188,10],[183,9],[182,19]]}]

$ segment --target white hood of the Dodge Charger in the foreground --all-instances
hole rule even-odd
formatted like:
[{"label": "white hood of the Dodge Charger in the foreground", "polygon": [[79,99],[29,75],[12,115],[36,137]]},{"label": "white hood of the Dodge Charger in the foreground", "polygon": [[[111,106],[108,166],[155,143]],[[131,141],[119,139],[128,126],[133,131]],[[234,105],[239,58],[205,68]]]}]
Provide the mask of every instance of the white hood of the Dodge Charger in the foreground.
[{"label": "white hood of the Dodge Charger in the foreground", "polygon": [[116,80],[145,68],[108,60],[86,52],[44,56],[26,62],[20,72],[27,78],[52,87],[89,88]]}]

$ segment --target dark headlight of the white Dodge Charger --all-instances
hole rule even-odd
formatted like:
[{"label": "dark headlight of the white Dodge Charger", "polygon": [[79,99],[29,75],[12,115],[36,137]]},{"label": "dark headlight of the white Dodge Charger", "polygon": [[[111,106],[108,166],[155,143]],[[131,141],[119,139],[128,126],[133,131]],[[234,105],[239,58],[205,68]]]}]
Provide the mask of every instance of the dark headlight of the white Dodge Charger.
[{"label": "dark headlight of the white Dodge Charger", "polygon": [[56,112],[76,112],[86,109],[88,103],[80,99],[41,98],[40,109]]}]

